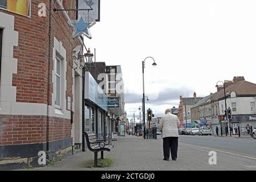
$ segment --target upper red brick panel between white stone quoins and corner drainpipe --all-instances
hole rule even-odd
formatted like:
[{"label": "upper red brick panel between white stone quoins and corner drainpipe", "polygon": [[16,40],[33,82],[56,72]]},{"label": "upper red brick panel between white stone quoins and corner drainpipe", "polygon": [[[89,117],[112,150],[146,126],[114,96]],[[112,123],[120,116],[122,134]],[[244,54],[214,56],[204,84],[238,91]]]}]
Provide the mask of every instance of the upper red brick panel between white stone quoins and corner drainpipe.
[{"label": "upper red brick panel between white stone quoins and corner drainpipe", "polygon": [[47,104],[48,21],[47,17],[38,16],[41,2],[48,6],[48,1],[32,1],[31,18],[13,14],[14,30],[19,32],[18,47],[14,47],[18,70],[13,74],[17,102]]}]

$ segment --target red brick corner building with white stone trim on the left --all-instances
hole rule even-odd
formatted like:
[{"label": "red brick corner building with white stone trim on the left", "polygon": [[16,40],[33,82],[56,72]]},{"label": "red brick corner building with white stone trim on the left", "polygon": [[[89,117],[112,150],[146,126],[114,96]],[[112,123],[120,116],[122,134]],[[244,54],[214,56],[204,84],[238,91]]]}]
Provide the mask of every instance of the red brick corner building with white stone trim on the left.
[{"label": "red brick corner building with white stone trim on the left", "polygon": [[82,40],[68,24],[75,13],[53,11],[61,2],[76,9],[76,1],[32,0],[24,16],[1,6],[0,169],[36,166],[39,151],[61,158],[82,141]]}]

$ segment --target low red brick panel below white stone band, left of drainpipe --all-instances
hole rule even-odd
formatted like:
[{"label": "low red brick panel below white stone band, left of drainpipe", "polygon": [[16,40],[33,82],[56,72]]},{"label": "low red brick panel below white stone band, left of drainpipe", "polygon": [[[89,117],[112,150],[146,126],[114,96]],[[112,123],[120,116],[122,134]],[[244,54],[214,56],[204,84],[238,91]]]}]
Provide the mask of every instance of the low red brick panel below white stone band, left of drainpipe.
[{"label": "low red brick panel below white stone band, left of drainpipe", "polygon": [[0,115],[0,145],[46,142],[46,116]]}]

